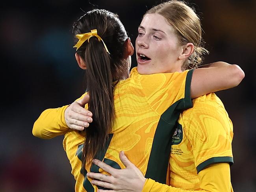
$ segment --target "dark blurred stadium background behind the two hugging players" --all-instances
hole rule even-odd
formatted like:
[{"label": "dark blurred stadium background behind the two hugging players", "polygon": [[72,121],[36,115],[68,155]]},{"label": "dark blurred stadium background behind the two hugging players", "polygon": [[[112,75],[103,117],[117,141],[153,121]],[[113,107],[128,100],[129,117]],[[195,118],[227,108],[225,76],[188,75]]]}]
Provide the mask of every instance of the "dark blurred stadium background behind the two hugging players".
[{"label": "dark blurred stadium background behind the two hugging players", "polygon": [[[73,102],[85,91],[83,70],[72,48],[72,24],[93,8],[118,13],[132,42],[145,11],[159,0],[45,0],[1,4],[0,191],[70,192],[74,177],[63,137],[32,135],[33,122],[47,108]],[[256,0],[189,0],[202,20],[210,51],[205,63],[238,64],[245,79],[217,92],[234,124],[231,167],[236,192],[256,191],[255,65]],[[132,58],[136,66],[135,55]]]}]

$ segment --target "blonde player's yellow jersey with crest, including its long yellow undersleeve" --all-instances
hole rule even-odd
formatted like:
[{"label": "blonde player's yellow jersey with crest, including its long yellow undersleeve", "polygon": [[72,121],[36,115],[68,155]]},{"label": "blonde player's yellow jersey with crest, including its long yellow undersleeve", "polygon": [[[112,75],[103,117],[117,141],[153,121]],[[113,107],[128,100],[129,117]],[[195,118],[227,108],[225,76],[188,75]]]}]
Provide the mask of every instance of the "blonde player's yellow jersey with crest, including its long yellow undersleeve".
[{"label": "blonde player's yellow jersey with crest, including its long yellow undersleeve", "polygon": [[[233,125],[221,100],[214,93],[194,99],[174,129],[167,185],[151,178],[143,192],[233,192],[228,165],[233,164],[232,138]],[[212,165],[217,166],[207,169]]]}]

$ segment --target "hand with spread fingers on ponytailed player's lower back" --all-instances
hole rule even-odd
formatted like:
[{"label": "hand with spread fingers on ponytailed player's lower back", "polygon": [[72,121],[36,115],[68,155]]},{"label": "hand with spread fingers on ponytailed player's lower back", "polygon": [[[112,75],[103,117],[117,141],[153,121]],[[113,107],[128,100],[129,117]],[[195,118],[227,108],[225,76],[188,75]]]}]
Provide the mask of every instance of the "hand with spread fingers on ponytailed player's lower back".
[{"label": "hand with spread fingers on ponytailed player's lower back", "polygon": [[100,180],[92,180],[91,183],[93,185],[112,189],[99,189],[98,192],[141,192],[146,178],[143,176],[141,171],[124,155],[124,151],[119,153],[119,158],[124,166],[126,166],[125,169],[115,169],[102,161],[94,159],[93,163],[99,166],[102,170],[108,172],[110,175],[90,172],[87,173],[87,177]]}]

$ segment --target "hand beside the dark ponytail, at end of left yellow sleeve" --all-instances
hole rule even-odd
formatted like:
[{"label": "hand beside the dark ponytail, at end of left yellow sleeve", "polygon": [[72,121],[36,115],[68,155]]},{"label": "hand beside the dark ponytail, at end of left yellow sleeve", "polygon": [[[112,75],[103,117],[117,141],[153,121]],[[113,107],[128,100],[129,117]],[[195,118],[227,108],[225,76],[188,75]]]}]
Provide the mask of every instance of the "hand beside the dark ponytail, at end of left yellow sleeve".
[{"label": "hand beside the dark ponytail, at end of left yellow sleeve", "polygon": [[64,117],[67,126],[70,129],[82,131],[84,127],[89,127],[89,123],[93,122],[93,114],[84,109],[86,103],[89,102],[89,95],[85,95],[82,99],[73,102],[65,110]]}]

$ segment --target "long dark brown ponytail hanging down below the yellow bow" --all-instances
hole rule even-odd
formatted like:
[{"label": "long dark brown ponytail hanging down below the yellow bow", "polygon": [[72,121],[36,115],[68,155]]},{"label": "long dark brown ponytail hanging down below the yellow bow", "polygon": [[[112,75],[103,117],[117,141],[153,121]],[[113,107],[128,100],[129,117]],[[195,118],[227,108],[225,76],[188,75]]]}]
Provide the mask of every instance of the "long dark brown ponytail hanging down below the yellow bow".
[{"label": "long dark brown ponytail hanging down below the yellow bow", "polygon": [[86,81],[90,95],[89,111],[93,113],[93,122],[85,129],[83,157],[90,161],[96,151],[105,145],[111,131],[114,118],[113,76],[111,62],[102,42],[92,37],[85,51],[87,64]]}]

